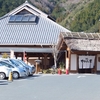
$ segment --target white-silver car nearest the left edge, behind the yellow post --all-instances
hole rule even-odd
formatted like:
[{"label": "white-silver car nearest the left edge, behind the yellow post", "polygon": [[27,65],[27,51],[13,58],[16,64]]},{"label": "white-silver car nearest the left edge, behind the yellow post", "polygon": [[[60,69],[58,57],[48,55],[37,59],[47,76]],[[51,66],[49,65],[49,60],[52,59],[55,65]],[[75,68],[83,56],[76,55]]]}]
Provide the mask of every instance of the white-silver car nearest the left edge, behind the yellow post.
[{"label": "white-silver car nearest the left edge, behind the yellow post", "polygon": [[9,77],[10,72],[12,72],[11,66],[6,66],[0,63],[0,79]]}]

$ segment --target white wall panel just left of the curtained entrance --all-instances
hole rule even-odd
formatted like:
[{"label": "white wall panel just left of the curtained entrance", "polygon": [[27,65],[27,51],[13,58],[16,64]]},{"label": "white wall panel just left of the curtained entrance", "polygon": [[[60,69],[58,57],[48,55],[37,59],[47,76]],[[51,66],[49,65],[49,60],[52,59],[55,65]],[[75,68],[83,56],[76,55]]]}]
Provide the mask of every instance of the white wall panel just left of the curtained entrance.
[{"label": "white wall panel just left of the curtained entrance", "polygon": [[70,70],[77,70],[77,55],[71,54]]}]

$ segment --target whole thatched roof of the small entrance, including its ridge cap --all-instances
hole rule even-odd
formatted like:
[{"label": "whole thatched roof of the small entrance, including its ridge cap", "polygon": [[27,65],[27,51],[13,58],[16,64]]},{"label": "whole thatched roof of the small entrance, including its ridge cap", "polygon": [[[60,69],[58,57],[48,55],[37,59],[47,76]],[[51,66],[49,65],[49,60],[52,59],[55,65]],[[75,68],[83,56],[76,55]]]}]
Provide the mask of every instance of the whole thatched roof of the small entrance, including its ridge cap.
[{"label": "whole thatched roof of the small entrance, including its ridge cap", "polygon": [[71,50],[100,51],[99,33],[66,32],[59,36],[58,47],[65,42]]}]

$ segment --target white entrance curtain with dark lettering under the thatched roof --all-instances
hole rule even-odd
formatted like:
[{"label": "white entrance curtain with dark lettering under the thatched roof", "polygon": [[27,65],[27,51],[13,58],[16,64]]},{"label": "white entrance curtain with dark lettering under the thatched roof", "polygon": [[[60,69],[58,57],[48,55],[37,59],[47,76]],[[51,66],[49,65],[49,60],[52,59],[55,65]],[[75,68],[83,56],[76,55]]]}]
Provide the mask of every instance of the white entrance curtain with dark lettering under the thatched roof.
[{"label": "white entrance curtain with dark lettering under the thatched roof", "polygon": [[95,56],[79,56],[79,69],[93,68]]}]

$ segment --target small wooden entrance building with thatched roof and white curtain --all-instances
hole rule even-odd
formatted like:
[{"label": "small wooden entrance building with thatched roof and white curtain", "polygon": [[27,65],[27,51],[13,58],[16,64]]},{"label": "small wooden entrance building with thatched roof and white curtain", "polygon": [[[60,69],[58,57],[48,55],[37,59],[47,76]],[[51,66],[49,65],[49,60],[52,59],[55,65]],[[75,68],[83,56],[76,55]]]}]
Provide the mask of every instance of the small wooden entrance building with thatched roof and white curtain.
[{"label": "small wooden entrance building with thatched roof and white curtain", "polygon": [[59,60],[70,73],[100,72],[99,33],[62,32],[57,48],[64,51]]}]

